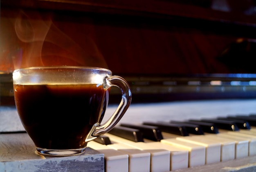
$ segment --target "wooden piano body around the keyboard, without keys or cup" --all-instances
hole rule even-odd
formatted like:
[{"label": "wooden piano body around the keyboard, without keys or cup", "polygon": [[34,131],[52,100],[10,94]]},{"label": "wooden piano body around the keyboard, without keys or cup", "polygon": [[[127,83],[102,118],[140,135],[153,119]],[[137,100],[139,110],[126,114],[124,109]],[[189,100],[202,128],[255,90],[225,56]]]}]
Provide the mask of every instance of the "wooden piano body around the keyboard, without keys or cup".
[{"label": "wooden piano body around the keyboard, without keys or cup", "polygon": [[[0,3],[1,132],[23,130],[13,107],[11,72],[42,64],[100,66],[124,77],[132,89],[132,106],[121,122],[256,113],[254,1]],[[111,94],[106,117],[119,101],[116,90]],[[42,164],[49,168],[57,162],[69,164],[67,171],[104,170],[103,154],[94,150],[45,159],[34,154],[25,133],[1,134],[0,141],[1,172],[10,164],[25,170],[31,163],[45,169]],[[92,157],[99,161],[88,163]],[[255,166],[253,156],[178,171],[250,171]]]}]

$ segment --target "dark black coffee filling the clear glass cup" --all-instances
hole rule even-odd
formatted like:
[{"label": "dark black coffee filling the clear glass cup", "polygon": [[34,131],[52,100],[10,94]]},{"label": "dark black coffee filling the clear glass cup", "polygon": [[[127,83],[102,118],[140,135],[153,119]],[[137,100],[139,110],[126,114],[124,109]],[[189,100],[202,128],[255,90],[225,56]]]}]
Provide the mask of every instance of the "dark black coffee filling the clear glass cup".
[{"label": "dark black coffee filling the clear glass cup", "polygon": [[[18,114],[38,148],[84,148],[103,118],[108,91],[102,85],[14,85]],[[102,114],[102,115],[101,115]]]}]

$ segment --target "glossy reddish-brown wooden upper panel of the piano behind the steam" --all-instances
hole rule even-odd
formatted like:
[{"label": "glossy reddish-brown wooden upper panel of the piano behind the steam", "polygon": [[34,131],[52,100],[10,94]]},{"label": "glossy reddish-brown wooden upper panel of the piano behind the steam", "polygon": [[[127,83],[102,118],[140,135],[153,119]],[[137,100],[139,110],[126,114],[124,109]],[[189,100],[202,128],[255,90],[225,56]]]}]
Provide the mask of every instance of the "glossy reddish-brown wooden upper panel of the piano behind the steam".
[{"label": "glossy reddish-brown wooden upper panel of the piano behind the steam", "polygon": [[[251,72],[217,57],[240,39],[256,40],[256,16],[184,2],[2,0],[0,71],[40,65],[40,55],[28,58],[42,46],[44,65],[100,66],[116,74]],[[52,22],[48,42],[18,39],[14,23],[21,14]]]}]

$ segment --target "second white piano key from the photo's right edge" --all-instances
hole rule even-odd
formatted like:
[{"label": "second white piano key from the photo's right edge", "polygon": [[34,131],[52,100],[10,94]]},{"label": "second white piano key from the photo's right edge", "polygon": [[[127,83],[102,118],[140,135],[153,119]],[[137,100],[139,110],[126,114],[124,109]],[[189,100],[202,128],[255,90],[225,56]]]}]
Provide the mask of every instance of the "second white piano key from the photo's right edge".
[{"label": "second white piano key from the photo's right edge", "polygon": [[[208,137],[208,135],[206,135]],[[217,134],[215,137],[222,137],[225,139],[230,139],[235,141],[236,150],[235,150],[235,159],[248,157],[248,149],[249,149],[249,141],[246,139],[242,139],[240,137],[233,137],[230,135],[225,135],[222,133]]]}]

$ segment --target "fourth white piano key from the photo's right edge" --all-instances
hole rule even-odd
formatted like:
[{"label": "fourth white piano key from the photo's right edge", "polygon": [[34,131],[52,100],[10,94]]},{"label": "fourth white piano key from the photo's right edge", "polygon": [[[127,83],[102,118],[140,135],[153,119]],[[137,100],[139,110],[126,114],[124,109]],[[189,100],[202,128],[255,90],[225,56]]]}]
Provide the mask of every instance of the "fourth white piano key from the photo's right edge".
[{"label": "fourth white piano key from the photo's right edge", "polygon": [[187,136],[187,137],[177,137],[177,140],[187,141],[189,143],[194,143],[205,147],[205,163],[217,163],[220,162],[220,151],[221,144],[218,142],[213,142],[202,136]]}]

